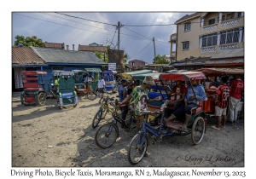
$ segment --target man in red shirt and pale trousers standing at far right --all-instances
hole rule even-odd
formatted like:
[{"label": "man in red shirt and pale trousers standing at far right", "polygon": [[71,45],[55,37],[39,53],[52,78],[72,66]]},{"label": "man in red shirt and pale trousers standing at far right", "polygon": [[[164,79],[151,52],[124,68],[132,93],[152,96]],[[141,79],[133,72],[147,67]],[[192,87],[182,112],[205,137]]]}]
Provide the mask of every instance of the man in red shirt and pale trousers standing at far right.
[{"label": "man in red shirt and pale trousers standing at far right", "polygon": [[230,122],[236,124],[237,111],[239,102],[241,101],[241,92],[244,90],[244,83],[239,75],[235,76],[235,79],[230,84]]}]

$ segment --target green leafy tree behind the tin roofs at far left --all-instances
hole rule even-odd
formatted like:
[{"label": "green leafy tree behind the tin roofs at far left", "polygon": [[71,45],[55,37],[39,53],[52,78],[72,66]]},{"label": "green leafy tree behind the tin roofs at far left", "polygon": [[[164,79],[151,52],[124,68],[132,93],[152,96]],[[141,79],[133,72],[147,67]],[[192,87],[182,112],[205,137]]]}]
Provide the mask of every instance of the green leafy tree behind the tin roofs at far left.
[{"label": "green leafy tree behind the tin roofs at far left", "polygon": [[23,46],[45,47],[45,43],[43,43],[43,40],[41,38],[37,38],[37,36],[24,38],[24,36],[17,35],[15,39],[16,46],[21,43]]}]

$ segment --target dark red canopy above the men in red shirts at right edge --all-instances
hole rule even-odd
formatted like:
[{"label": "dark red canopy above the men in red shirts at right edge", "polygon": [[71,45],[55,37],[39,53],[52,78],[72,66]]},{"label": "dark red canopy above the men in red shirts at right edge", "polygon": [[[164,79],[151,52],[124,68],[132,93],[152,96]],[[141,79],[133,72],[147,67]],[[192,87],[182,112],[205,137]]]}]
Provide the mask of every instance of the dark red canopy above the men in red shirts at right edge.
[{"label": "dark red canopy above the men in red shirts at right edge", "polygon": [[227,75],[243,74],[242,68],[201,68],[193,72],[203,72],[207,77],[222,76],[224,73]]}]

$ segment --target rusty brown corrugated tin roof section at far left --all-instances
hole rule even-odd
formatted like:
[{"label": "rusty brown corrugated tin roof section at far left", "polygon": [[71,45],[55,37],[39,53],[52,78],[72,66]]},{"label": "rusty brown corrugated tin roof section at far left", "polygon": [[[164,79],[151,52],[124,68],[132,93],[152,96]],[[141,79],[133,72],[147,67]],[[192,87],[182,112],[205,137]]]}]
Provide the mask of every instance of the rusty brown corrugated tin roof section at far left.
[{"label": "rusty brown corrugated tin roof section at far left", "polygon": [[30,47],[12,47],[12,64],[15,65],[38,65],[45,64],[44,60],[33,52]]}]

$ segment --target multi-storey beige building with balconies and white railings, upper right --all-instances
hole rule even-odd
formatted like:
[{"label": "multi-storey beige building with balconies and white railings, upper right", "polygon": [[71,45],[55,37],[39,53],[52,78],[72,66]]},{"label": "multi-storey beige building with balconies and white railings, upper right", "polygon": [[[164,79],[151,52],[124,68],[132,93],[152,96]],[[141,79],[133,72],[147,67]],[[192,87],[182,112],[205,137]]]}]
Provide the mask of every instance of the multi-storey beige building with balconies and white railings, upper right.
[{"label": "multi-storey beige building with balconies and white railings, upper right", "polygon": [[170,37],[171,60],[206,58],[226,49],[244,48],[243,12],[196,12],[183,16],[175,24],[177,32]]}]

